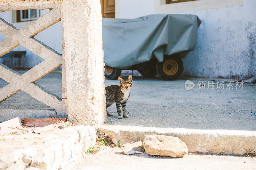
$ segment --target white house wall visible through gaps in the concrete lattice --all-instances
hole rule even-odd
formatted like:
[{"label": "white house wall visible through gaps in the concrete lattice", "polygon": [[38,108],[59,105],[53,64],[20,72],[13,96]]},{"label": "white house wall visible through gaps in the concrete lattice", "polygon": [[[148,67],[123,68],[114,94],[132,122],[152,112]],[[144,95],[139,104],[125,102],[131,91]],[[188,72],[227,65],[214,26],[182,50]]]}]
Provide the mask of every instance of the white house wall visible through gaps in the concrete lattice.
[{"label": "white house wall visible through gaps in the concrete lattice", "polygon": [[[49,10],[41,10],[40,15],[43,16],[46,14]],[[26,22],[12,22],[12,11],[5,11],[5,12],[0,12],[0,17],[3,18],[5,21],[11,23],[18,29],[21,29],[28,25],[29,23],[33,21],[26,21]],[[40,32],[35,36],[36,39],[42,41],[44,44],[50,46],[54,50],[56,50],[58,53],[62,53],[62,48],[61,48],[61,28],[60,28],[60,22],[52,25],[51,27],[45,29],[43,32]],[[0,33],[0,41],[5,39],[5,36]],[[35,53],[31,52],[27,48],[23,46],[17,46],[14,48],[12,51],[27,51],[26,53],[26,67],[27,68],[32,68],[38,63],[42,62],[44,59],[37,56]],[[0,62],[3,60],[3,58],[0,58]],[[58,67],[57,70],[60,70],[61,68]]]}]

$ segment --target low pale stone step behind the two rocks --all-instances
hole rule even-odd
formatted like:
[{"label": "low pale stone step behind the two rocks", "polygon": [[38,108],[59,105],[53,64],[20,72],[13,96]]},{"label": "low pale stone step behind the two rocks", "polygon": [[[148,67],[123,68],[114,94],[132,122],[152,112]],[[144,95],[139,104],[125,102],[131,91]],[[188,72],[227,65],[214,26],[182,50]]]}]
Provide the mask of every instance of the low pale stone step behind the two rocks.
[{"label": "low pale stone step behind the two rocks", "polygon": [[101,125],[100,131],[117,145],[142,141],[145,135],[159,134],[180,138],[190,153],[224,155],[256,154],[256,131],[198,130],[182,128],[156,128],[141,126]]}]

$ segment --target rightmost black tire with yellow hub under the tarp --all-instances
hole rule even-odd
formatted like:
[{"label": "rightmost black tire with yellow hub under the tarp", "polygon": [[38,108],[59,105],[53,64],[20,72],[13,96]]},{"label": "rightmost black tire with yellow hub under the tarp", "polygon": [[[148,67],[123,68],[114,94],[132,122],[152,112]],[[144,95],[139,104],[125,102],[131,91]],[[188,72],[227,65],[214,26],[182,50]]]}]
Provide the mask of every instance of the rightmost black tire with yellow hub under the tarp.
[{"label": "rightmost black tire with yellow hub under the tarp", "polygon": [[179,55],[164,56],[164,61],[157,63],[157,74],[164,80],[177,79],[183,70]]}]

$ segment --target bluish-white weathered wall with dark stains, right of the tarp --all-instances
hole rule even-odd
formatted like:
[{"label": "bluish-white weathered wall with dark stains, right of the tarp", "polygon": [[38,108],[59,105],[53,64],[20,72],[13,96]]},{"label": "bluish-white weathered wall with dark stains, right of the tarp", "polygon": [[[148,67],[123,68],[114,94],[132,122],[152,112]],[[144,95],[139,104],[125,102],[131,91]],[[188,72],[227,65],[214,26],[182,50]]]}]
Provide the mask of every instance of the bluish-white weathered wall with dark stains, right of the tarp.
[{"label": "bluish-white weathered wall with dark stains, right of the tarp", "polygon": [[199,16],[196,49],[184,62],[183,75],[249,79],[256,76],[256,1],[243,6],[182,12]]}]

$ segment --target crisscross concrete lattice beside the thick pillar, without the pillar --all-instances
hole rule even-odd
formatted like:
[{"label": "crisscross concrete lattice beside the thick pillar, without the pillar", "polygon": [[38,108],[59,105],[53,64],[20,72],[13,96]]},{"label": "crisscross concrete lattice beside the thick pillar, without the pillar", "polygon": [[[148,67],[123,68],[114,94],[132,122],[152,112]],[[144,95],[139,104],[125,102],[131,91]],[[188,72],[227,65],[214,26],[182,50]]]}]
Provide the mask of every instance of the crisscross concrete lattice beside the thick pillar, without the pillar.
[{"label": "crisscross concrete lattice beside the thick pillar, without the pillar", "polygon": [[20,30],[0,18],[0,32],[7,37],[0,42],[0,57],[21,45],[44,59],[43,62],[24,74],[19,74],[0,63],[0,77],[9,82],[8,85],[0,89],[0,103],[22,90],[35,99],[52,107],[58,114],[63,114],[65,113],[65,109],[62,99],[35,83],[35,81],[62,64],[61,54],[34,38],[39,32],[42,32],[44,29],[60,21],[60,5],[47,1],[46,3],[39,1],[39,3],[32,4],[12,4],[13,7],[10,7],[10,5],[7,7],[1,4],[0,10],[48,8],[51,9],[51,11]]}]

